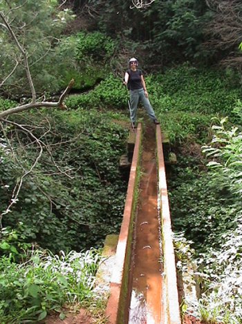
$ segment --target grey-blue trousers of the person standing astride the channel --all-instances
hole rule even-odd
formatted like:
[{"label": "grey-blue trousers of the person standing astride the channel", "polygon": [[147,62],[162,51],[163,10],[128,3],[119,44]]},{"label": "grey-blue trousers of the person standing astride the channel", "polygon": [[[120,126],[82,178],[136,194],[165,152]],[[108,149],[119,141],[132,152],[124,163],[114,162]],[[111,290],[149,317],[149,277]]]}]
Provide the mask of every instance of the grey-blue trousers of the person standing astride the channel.
[{"label": "grey-blue trousers of the person standing astride the channel", "polygon": [[137,108],[138,103],[141,101],[142,105],[144,106],[147,114],[149,114],[149,118],[154,121],[156,119],[155,112],[149,102],[149,99],[145,96],[144,89],[137,89],[137,90],[129,90],[130,93],[130,119],[132,123],[136,122],[136,115],[137,115]]}]

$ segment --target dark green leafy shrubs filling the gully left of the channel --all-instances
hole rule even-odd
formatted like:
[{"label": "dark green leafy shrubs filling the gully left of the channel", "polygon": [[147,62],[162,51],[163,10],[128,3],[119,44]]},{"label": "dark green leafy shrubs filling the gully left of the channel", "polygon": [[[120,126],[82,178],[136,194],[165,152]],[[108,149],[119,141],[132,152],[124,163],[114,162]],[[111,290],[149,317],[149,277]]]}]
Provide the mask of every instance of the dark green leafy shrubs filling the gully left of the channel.
[{"label": "dark green leafy shrubs filling the gully left of the channel", "polygon": [[[23,114],[22,118],[26,123],[28,117]],[[118,232],[127,188],[119,158],[127,130],[113,119],[117,114],[94,110],[31,114],[32,124],[39,126],[42,120],[35,136],[41,137],[52,158],[44,149],[39,164],[24,178],[12,212],[3,216],[3,226],[15,230],[21,244],[35,242],[53,251],[80,250],[100,246],[108,233]],[[18,132],[18,139],[18,146],[12,143],[15,155],[28,170],[39,151],[26,134]],[[23,171],[10,151],[3,152],[2,158],[0,200],[5,212]],[[15,248],[19,252],[16,244]]]}]

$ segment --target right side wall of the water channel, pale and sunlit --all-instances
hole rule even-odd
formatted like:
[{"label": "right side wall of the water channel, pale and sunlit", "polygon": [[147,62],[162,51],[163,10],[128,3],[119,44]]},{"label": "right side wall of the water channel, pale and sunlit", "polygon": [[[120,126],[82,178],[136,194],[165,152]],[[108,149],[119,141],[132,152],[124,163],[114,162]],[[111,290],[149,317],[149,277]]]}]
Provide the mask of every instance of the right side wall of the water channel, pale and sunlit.
[{"label": "right side wall of the water channel, pale and sunlit", "polygon": [[172,241],[171,216],[169,212],[169,198],[167,180],[165,176],[165,162],[162,149],[162,135],[160,126],[156,126],[157,158],[158,158],[158,186],[160,198],[160,214],[162,220],[162,246],[165,274],[165,321],[168,324],[180,324],[180,309],[178,302],[178,287],[176,279],[176,262]]}]

